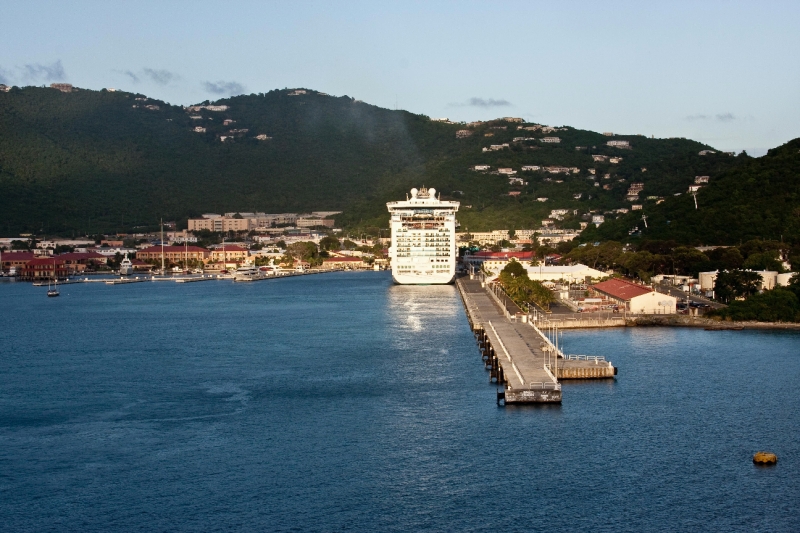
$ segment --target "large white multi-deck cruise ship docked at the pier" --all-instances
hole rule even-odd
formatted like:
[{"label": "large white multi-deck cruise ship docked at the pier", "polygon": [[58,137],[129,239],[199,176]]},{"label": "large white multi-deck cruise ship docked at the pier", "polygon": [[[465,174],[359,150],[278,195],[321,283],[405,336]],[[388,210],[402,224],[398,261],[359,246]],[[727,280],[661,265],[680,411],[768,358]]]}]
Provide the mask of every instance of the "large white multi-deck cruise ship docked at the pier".
[{"label": "large white multi-deck cruise ship docked at the pier", "polygon": [[392,278],[401,285],[452,283],[456,275],[456,211],[436,189],[411,189],[405,201],[388,202]]}]

